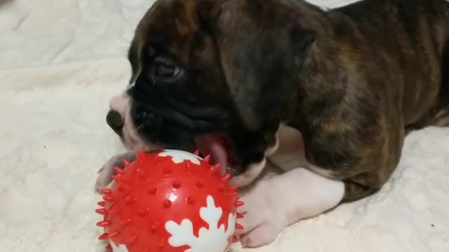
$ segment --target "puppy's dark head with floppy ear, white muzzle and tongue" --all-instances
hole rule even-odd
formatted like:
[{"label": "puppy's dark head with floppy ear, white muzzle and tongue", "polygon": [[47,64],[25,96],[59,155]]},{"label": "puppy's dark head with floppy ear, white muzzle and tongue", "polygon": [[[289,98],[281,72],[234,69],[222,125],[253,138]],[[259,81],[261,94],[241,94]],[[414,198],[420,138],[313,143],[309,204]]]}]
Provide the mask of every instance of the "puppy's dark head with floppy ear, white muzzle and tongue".
[{"label": "puppy's dark head with floppy ear, white muzzle and tongue", "polygon": [[277,146],[314,41],[275,1],[159,0],[135,31],[133,75],[107,123],[135,151],[199,148],[250,183]]}]

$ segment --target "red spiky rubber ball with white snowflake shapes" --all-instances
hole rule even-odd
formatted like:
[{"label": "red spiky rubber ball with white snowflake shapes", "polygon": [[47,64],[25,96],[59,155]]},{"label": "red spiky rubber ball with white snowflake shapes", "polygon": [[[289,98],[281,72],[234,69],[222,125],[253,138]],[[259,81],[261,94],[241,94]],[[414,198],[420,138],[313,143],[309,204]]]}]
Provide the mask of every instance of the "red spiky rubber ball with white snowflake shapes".
[{"label": "red spiky rubber ball with white snowflake shapes", "polygon": [[224,252],[236,242],[239,201],[231,176],[210,156],[163,150],[138,153],[102,189],[97,223],[114,252]]}]

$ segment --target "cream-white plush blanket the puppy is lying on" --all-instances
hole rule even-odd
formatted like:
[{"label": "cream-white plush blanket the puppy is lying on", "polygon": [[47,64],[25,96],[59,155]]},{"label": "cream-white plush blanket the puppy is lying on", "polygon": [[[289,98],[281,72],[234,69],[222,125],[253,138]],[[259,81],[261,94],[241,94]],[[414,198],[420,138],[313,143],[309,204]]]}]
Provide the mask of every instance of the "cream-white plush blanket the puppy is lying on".
[{"label": "cream-white plush blanket the puppy is lying on", "polygon": [[[105,113],[128,81],[128,41],[152,2],[0,0],[2,252],[102,251],[93,184],[123,151]],[[449,130],[428,128],[406,139],[377,195],[234,251],[449,251],[448,195]]]}]

